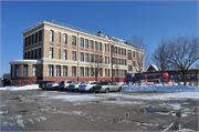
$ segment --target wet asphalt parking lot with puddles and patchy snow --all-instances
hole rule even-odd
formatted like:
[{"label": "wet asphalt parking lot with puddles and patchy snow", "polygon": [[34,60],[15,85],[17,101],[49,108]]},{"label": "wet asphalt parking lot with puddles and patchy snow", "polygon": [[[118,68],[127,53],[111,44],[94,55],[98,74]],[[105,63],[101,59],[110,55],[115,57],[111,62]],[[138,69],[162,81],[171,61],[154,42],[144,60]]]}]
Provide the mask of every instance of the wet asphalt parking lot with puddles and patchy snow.
[{"label": "wet asphalt parking lot with puddles and patchy snow", "polygon": [[[198,130],[198,101],[172,99],[171,94],[181,93],[1,91],[1,130]],[[166,98],[158,100],[158,97]]]}]

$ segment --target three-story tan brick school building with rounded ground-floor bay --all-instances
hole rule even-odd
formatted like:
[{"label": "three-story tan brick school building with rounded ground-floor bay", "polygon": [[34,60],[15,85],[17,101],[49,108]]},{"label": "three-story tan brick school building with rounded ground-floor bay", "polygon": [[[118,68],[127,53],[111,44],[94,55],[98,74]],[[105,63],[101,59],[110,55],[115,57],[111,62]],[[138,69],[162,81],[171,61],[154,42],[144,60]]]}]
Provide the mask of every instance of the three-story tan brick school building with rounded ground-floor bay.
[{"label": "three-story tan brick school building with rounded ground-floor bay", "polygon": [[97,81],[112,81],[112,64],[114,81],[123,82],[125,73],[136,72],[135,55],[144,55],[130,42],[59,21],[41,21],[22,34],[23,60],[10,62],[12,82],[91,81],[96,69]]}]

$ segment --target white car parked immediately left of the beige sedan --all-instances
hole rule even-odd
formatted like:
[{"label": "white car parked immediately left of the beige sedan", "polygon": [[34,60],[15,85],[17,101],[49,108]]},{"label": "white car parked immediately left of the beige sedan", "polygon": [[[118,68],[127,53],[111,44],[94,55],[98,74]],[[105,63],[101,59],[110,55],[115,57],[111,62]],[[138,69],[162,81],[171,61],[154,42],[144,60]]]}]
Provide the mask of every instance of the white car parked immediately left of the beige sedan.
[{"label": "white car parked immediately left of the beige sedan", "polygon": [[85,83],[83,83],[83,84],[81,84],[78,87],[78,91],[81,91],[81,92],[85,92],[85,91],[92,92],[93,87],[95,87],[96,84],[98,84],[98,82],[96,82],[96,81],[85,82]]}]

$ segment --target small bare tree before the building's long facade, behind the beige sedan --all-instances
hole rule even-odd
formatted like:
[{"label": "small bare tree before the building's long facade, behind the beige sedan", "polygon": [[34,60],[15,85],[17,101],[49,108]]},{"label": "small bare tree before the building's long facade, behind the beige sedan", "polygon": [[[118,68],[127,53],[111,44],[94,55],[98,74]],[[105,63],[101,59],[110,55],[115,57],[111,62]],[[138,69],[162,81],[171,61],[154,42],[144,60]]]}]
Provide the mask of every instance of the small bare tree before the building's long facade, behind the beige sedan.
[{"label": "small bare tree before the building's long facade, behind the beige sedan", "polygon": [[100,57],[98,54],[95,54],[97,55],[97,58],[95,58],[95,62],[94,62],[94,59],[91,60],[91,63],[90,68],[91,68],[91,74],[93,74],[95,77],[95,81],[97,81],[97,78],[100,75],[100,73],[103,73],[103,68],[106,68],[105,64],[103,64],[103,58],[102,55]]}]

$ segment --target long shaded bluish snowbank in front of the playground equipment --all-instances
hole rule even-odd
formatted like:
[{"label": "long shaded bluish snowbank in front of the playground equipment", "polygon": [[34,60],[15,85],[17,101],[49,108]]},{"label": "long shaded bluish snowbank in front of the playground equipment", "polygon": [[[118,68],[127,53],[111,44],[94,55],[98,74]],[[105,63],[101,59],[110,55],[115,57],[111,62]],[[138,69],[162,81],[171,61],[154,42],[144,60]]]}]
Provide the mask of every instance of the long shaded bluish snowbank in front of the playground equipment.
[{"label": "long shaded bluish snowbank in front of the playground equipment", "polygon": [[122,91],[164,91],[164,92],[199,92],[199,87],[189,85],[154,85],[154,87],[138,87],[124,85]]}]

